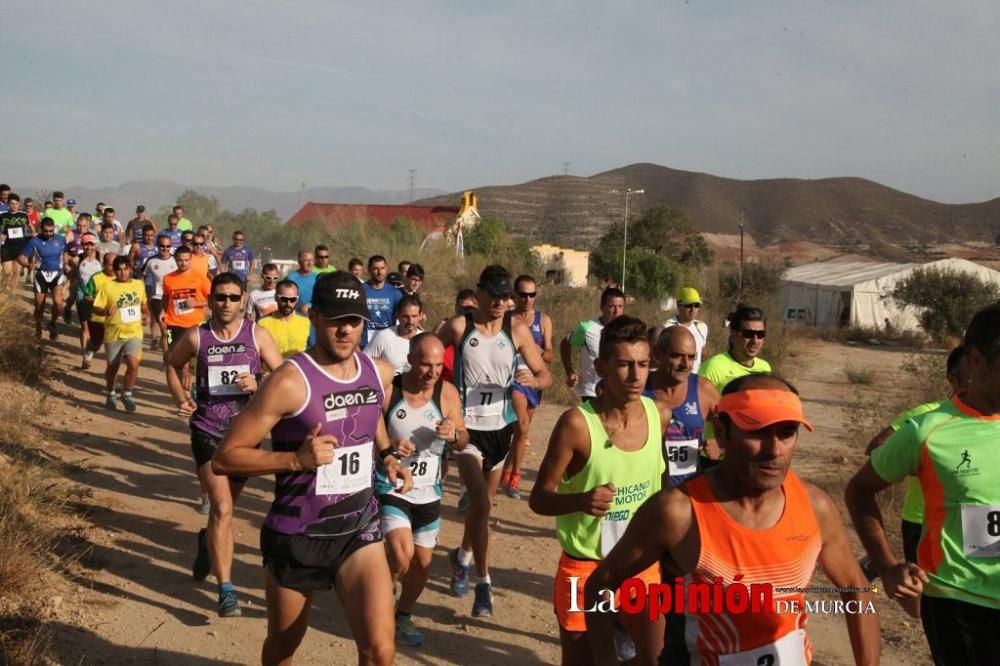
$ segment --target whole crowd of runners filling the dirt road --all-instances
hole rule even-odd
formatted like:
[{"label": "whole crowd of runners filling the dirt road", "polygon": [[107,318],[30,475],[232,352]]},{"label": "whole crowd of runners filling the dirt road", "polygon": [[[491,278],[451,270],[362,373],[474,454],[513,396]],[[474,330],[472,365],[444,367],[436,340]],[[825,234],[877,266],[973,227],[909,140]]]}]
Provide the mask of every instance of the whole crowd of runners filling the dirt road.
[{"label": "whole crowd of runners filling the dirt road", "polygon": [[[75,306],[81,368],[103,352],[106,409],[135,411],[147,344],[162,356],[207,514],[192,574],[214,576],[222,617],[241,614],[234,504],[248,477],[275,476],[260,534],[265,664],[291,663],[314,593],[331,589],[361,663],[424,644],[413,614],[452,467],[464,530],[448,544],[450,590],[471,593],[473,617],[500,615],[490,515],[498,490],[521,497],[557,345],[580,404],[556,423],[529,505],[555,518],[562,548],[552,603],[563,663],[808,663],[803,588],[817,565],[862,609],[844,615],[857,663],[879,660],[879,616],[863,610],[875,577],[921,619],[936,663],[997,662],[1000,305],[976,314],[949,356],[953,394],[888,425],[848,485],[862,566],[835,502],[791,469],[800,426],[812,426],[761,357],[759,308],[737,307],[726,349],[710,355],[696,287],[654,325],[608,287],[599,315],[570,326],[536,307],[534,277],[490,265],[453,316],[428,325],[419,263],[392,271],[375,255],[341,271],[319,245],[283,275],[244,233],[223,247],[180,206],[163,226],[142,206],[122,224],[103,204],[81,212],[54,192],[39,205],[6,185],[0,239],[4,287],[30,284],[40,338],[55,340]],[[900,552],[876,498],[904,481]],[[760,586],[775,603],[747,610]],[[711,603],[685,588],[710,590]]]}]

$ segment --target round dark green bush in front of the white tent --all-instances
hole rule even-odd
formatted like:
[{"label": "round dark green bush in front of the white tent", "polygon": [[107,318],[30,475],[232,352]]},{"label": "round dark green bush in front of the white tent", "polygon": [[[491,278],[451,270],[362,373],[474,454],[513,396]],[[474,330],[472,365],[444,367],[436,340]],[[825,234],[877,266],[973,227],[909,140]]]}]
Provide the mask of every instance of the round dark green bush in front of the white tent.
[{"label": "round dark green bush in front of the white tent", "polygon": [[887,297],[902,308],[918,310],[920,327],[940,340],[961,337],[972,315],[1000,298],[1000,288],[973,273],[929,267],[915,269]]}]

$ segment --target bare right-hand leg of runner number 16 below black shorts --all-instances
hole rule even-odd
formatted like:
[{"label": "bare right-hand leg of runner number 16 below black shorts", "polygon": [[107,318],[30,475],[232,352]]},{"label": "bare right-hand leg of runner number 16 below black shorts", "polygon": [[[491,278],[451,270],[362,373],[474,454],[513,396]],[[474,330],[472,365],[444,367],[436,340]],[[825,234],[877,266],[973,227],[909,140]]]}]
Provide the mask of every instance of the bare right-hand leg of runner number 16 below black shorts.
[{"label": "bare right-hand leg of runner number 16 below black shorts", "polygon": [[392,578],[382,544],[354,551],[337,571],[335,588],[358,646],[358,663],[391,664],[396,654]]}]

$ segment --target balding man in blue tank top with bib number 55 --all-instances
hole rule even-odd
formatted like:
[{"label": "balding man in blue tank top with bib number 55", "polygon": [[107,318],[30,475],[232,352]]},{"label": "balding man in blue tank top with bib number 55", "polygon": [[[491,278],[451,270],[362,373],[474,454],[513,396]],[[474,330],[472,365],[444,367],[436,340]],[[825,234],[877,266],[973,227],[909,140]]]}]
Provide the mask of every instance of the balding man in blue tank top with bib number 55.
[{"label": "balding man in blue tank top with bib number 55", "polygon": [[650,373],[645,395],[656,401],[660,419],[667,424],[663,435],[669,475],[666,487],[679,485],[719,457],[714,436],[705,432],[705,424],[719,404],[719,392],[710,381],[694,374],[697,349],[688,327],[669,326],[653,350],[659,369]]}]

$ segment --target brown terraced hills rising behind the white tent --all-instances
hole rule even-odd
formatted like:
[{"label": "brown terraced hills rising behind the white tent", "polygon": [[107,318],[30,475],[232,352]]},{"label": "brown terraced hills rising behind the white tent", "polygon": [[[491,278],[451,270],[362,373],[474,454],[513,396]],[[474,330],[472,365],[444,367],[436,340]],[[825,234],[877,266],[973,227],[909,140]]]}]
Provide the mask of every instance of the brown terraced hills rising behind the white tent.
[{"label": "brown terraced hills rising behind the white tent", "polygon": [[[632,164],[589,178],[552,176],[474,189],[480,213],[506,220],[515,232],[587,249],[612,222],[623,219],[625,188],[645,190],[629,200],[633,215],[666,204],[685,211],[698,229],[709,233],[737,233],[745,209],[747,233],[759,245],[797,240],[864,247],[991,241],[1000,230],[1000,198],[943,204],[863,178],[735,180]],[[419,203],[443,204],[458,197],[448,194]]]}]

